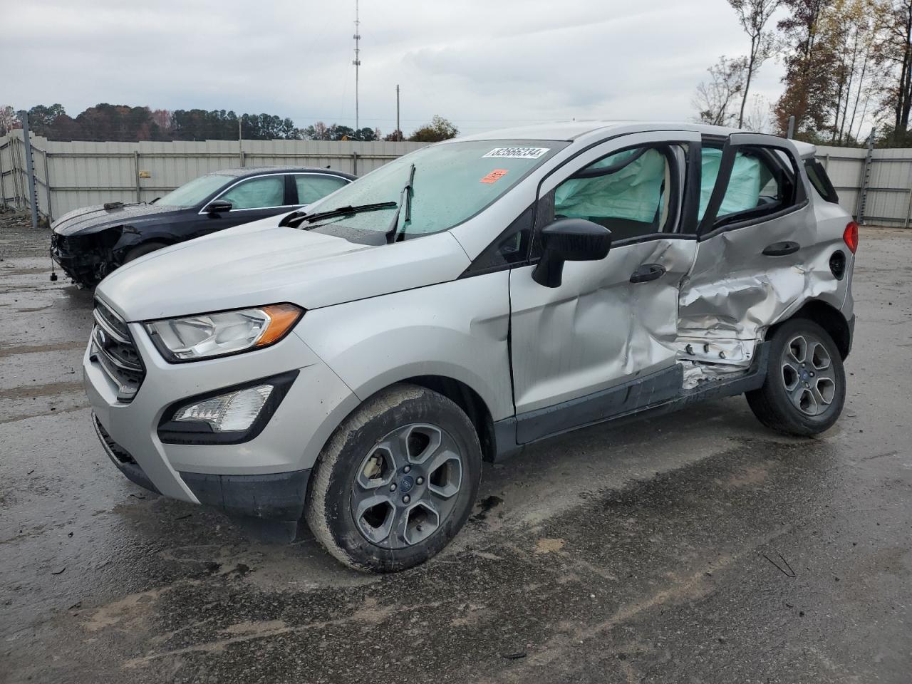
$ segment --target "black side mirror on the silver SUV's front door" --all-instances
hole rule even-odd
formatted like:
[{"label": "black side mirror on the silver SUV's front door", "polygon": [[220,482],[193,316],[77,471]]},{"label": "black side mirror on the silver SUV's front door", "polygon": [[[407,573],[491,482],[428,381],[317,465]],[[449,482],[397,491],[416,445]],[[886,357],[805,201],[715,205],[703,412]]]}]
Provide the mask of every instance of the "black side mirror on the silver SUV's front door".
[{"label": "black side mirror on the silver SUV's front door", "polygon": [[532,279],[545,287],[560,287],[565,261],[598,261],[611,249],[611,231],[586,219],[560,219],[542,230],[542,260]]}]

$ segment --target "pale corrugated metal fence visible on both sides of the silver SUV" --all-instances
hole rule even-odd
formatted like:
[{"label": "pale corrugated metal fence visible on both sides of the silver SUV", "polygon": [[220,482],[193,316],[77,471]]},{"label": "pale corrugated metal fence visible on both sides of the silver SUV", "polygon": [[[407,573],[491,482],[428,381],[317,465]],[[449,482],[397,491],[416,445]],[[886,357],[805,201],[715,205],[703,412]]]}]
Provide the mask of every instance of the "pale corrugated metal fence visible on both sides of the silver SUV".
[{"label": "pale corrugated metal fence visible on both sides of the silver SUV", "polygon": [[[38,211],[53,221],[103,202],[148,202],[203,173],[238,166],[331,167],[363,175],[420,142],[202,140],[57,142],[32,136]],[[863,223],[907,227],[912,218],[912,150],[821,146],[817,157],[839,202]],[[0,204],[26,209],[22,131],[0,137]]]}]

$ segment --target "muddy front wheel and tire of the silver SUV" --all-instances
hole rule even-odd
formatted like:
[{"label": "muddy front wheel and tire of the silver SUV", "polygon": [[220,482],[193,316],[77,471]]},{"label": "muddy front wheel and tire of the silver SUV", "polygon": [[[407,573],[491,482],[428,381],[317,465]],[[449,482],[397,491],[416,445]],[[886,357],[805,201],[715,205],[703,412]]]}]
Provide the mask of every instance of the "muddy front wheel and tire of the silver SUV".
[{"label": "muddy front wheel and tire of the silver SUV", "polygon": [[393,385],[337,428],[311,473],[305,517],[345,565],[389,573],[450,543],[472,512],[482,448],[450,399]]}]

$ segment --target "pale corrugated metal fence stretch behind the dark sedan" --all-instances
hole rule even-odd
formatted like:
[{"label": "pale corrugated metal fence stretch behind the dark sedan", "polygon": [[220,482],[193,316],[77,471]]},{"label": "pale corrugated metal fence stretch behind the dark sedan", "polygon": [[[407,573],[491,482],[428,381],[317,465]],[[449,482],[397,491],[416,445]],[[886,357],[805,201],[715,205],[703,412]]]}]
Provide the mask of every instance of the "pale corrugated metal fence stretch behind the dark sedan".
[{"label": "pale corrugated metal fence stretch behind the dark sedan", "polygon": [[[53,221],[104,202],[148,202],[203,173],[241,166],[316,166],[363,175],[421,142],[179,140],[59,142],[32,136],[38,212]],[[30,206],[21,130],[0,137],[0,204]]]}]

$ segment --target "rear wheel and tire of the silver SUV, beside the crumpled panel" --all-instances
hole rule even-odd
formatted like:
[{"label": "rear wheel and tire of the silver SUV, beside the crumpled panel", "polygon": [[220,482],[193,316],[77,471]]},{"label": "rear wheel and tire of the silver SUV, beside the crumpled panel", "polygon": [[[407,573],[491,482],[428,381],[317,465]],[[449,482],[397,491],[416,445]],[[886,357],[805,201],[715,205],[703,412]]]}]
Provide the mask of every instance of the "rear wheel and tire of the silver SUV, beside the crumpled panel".
[{"label": "rear wheel and tire of the silver SUV, beside the crumpled panel", "polygon": [[792,318],[773,330],[766,380],[747,392],[754,415],[771,430],[808,437],[833,426],[845,405],[845,368],[823,327]]}]

